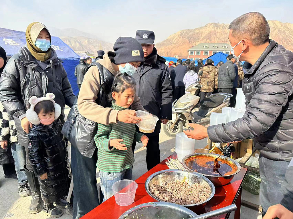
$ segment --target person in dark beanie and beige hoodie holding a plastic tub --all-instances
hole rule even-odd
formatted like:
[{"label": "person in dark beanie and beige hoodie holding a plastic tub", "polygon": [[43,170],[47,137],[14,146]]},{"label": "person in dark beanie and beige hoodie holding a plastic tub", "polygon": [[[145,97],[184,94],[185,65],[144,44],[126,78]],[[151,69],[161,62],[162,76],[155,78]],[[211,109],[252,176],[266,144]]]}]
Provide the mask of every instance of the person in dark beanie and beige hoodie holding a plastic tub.
[{"label": "person in dark beanie and beige hoodie holding a plastic tub", "polygon": [[[141,119],[136,117],[135,110],[145,110],[137,95],[131,105],[132,110],[118,111],[110,108],[108,94],[117,72],[132,74],[144,60],[142,46],[132,37],[119,37],[113,49],[114,53],[108,52],[103,59],[86,68],[77,99],[79,113],[99,124],[108,125],[119,121],[137,123]],[[82,127],[78,130],[71,129],[71,132],[88,135],[86,128],[82,129]],[[81,218],[99,204],[96,180],[97,155],[95,146],[83,148],[71,143],[71,171],[74,181],[73,218]]]}]

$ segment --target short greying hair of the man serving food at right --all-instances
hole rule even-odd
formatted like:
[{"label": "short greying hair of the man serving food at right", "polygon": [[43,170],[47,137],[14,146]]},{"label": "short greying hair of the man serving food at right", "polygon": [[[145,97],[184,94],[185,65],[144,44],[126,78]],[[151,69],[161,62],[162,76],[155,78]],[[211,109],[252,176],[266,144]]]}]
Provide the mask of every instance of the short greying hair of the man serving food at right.
[{"label": "short greying hair of the man serving food at right", "polygon": [[270,26],[267,19],[259,12],[249,12],[234,19],[229,29],[232,36],[237,39],[248,39],[254,46],[268,42],[270,37]]}]

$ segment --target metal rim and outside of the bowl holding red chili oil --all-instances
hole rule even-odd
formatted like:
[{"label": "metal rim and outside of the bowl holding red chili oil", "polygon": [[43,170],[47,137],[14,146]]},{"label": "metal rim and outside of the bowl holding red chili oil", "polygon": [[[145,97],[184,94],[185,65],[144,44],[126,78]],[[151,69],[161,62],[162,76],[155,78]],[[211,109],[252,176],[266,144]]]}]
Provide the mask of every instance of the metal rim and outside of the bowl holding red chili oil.
[{"label": "metal rim and outside of the bowl holding red chili oil", "polygon": [[[195,153],[195,154],[189,154],[189,155],[183,157],[183,159],[182,159],[183,166],[185,168],[187,168],[188,170],[190,170],[190,171],[194,171],[194,170],[190,169],[186,165],[186,160],[188,158],[190,158],[190,157],[198,156],[198,155],[205,155],[207,157],[213,157],[213,158],[216,159],[217,157],[219,157],[220,154],[211,154],[211,153]],[[226,185],[226,184],[230,183],[231,180],[233,179],[234,175],[241,170],[241,166],[240,166],[240,164],[237,161],[235,161],[235,160],[233,160],[233,159],[231,159],[229,157],[223,156],[223,155],[220,157],[220,159],[228,161],[231,165],[233,165],[234,167],[236,167],[237,170],[236,170],[235,173],[232,173],[230,175],[224,175],[224,176],[214,176],[214,175],[207,175],[207,174],[204,174],[204,173],[200,173],[200,174],[204,175],[205,177],[207,177],[209,180],[211,180],[212,183],[215,186],[223,186],[223,185]],[[196,172],[196,171],[194,171],[194,172]]]}]

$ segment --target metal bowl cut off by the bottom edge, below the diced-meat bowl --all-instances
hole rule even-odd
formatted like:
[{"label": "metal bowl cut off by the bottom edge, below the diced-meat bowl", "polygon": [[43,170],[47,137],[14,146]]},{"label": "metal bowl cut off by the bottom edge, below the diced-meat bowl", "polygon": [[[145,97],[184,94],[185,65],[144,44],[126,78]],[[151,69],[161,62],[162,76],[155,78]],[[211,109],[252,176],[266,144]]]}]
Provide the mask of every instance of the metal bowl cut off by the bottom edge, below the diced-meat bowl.
[{"label": "metal bowl cut off by the bottom edge, below the diced-meat bowl", "polygon": [[148,202],[125,211],[118,219],[185,219],[197,216],[196,213],[183,206],[168,202]]}]

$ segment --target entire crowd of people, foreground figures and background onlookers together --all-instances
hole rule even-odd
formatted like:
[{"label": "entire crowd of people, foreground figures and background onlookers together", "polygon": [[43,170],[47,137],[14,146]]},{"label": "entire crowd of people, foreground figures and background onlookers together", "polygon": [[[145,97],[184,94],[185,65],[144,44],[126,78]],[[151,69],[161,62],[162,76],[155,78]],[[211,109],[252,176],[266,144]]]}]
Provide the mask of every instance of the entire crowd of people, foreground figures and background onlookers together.
[{"label": "entire crowd of people, foreground figures and background onlookers together", "polygon": [[[113,196],[115,182],[132,178],[136,142],[147,147],[148,170],[159,164],[161,123],[171,119],[173,100],[199,81],[201,99],[214,92],[236,94],[243,86],[246,113],[208,129],[191,124],[194,130],[184,132],[213,142],[255,138],[263,215],[292,218],[293,54],[269,39],[268,22],[260,13],[241,15],[229,29],[232,54],[217,66],[211,59],[205,65],[198,60],[197,66],[178,59],[168,68],[154,46],[154,32],[119,37],[114,52],[98,51],[94,61],[81,59],[77,96],[42,23],[28,25],[26,46],[7,63],[0,47],[0,164],[5,178],[18,180],[19,195],[31,195],[28,211],[58,218],[66,209],[81,218]],[[239,59],[251,63],[246,73]],[[71,108],[66,121],[65,105]],[[142,119],[136,110],[159,118],[153,133],[139,132],[135,124]]]}]

